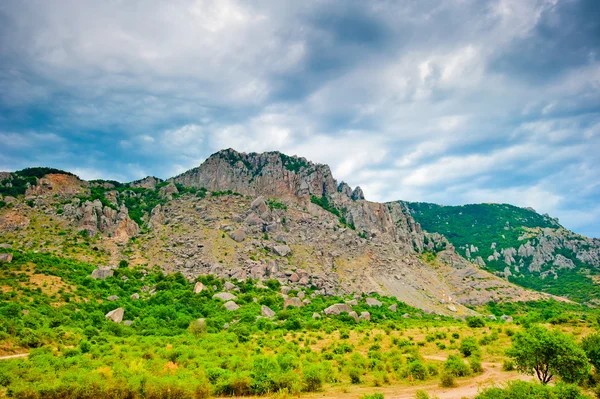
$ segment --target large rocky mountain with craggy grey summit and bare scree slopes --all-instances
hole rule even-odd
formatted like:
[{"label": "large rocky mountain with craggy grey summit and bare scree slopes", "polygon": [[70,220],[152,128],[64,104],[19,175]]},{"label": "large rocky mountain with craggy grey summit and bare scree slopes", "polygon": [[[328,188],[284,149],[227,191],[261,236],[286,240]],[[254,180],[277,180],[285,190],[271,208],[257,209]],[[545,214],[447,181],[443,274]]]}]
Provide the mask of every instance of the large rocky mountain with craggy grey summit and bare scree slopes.
[{"label": "large rocky mountain with craggy grey summit and bare scree slopes", "polygon": [[406,203],[367,201],[327,165],[279,152],[219,151],[166,181],[32,168],[0,176],[0,194],[0,241],[11,252],[380,293],[439,314],[549,297],[465,259]]}]

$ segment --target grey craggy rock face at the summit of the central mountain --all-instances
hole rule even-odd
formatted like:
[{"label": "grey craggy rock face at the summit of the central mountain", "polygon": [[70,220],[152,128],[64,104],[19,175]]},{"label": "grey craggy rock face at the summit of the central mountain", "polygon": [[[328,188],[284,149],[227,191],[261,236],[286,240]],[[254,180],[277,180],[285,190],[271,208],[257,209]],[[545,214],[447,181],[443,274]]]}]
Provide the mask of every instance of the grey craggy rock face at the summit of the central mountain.
[{"label": "grey craggy rock face at the summit of the central mountain", "polygon": [[267,197],[322,196],[337,191],[327,165],[278,152],[245,154],[232,149],[211,155],[202,165],[173,181],[210,191],[231,190]]}]

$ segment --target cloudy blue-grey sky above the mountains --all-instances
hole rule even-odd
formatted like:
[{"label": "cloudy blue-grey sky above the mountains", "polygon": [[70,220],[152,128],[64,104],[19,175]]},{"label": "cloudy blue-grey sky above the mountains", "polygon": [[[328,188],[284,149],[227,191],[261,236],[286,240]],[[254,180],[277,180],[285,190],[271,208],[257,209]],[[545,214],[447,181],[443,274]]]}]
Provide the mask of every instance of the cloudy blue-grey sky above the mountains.
[{"label": "cloudy blue-grey sky above the mountains", "polygon": [[230,147],[600,237],[600,2],[0,2],[0,170],[168,178]]}]

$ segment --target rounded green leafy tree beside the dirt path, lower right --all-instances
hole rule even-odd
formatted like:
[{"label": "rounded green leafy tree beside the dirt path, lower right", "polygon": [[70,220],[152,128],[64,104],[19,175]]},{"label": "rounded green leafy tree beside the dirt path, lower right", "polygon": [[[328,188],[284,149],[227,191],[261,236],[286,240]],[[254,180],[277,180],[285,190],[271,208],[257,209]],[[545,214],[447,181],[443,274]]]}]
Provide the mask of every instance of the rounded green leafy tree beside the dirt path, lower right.
[{"label": "rounded green leafy tree beside the dirt path, lower right", "polygon": [[535,373],[542,384],[555,375],[567,383],[578,382],[590,370],[585,352],[570,336],[540,326],[516,334],[506,354],[520,372]]}]

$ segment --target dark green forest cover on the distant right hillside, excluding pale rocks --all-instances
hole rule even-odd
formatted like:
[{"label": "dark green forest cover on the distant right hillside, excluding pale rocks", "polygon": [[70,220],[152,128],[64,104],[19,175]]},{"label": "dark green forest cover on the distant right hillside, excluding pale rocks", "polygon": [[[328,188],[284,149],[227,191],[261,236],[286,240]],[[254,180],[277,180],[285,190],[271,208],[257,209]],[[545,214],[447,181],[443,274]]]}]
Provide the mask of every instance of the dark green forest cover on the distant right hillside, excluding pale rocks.
[{"label": "dark green forest cover on the distant right hillside, excluding pale rocks", "polygon": [[[423,202],[403,202],[411,211],[414,219],[425,231],[443,234],[463,256],[473,245],[478,251],[470,254],[486,263],[491,272],[503,272],[507,266],[502,256],[498,260],[488,260],[494,251],[502,248],[518,249],[528,240],[527,229],[560,228],[560,224],[549,216],[540,215],[532,210],[508,204],[473,204],[463,206],[441,206]],[[521,240],[519,240],[521,238]],[[492,248],[493,244],[496,248]],[[554,295],[566,295],[570,299],[586,302],[600,299],[600,291],[589,274],[597,274],[577,258],[572,250],[558,248],[555,255],[562,255],[575,264],[575,269],[555,268],[557,278],[541,278],[537,271],[530,271],[531,257],[515,255],[519,273],[513,273],[509,280],[526,288],[548,292]],[[545,269],[544,269],[545,270]],[[543,271],[543,270],[542,270]]]}]

